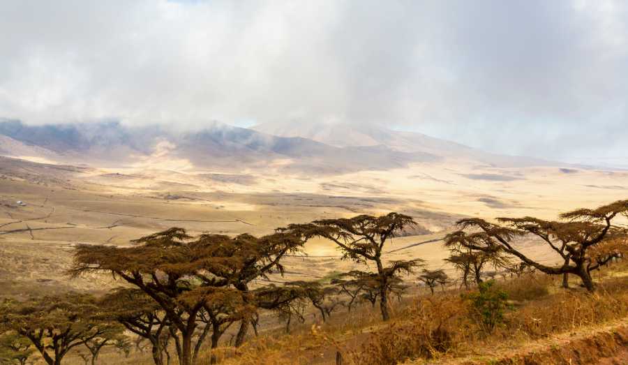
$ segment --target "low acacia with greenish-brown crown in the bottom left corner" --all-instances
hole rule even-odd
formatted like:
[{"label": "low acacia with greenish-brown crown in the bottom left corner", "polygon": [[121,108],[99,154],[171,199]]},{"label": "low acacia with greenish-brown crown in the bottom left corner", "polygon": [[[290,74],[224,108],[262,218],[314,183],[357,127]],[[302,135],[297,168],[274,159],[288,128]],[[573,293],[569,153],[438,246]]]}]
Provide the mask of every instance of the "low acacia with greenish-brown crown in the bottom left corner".
[{"label": "low acacia with greenish-brown crown in the bottom left corner", "polygon": [[25,302],[5,301],[3,328],[28,338],[48,365],[59,365],[70,350],[103,335],[109,326],[100,319],[96,299],[67,293]]}]

